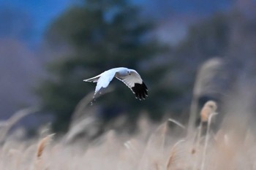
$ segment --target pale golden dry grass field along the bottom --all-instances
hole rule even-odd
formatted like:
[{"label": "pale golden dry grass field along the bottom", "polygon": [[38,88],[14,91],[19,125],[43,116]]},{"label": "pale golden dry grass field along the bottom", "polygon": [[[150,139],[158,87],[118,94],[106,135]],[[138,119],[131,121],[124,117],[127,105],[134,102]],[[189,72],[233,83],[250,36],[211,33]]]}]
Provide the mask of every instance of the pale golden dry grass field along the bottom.
[{"label": "pale golden dry grass field along the bottom", "polygon": [[[236,121],[244,126],[234,125],[234,118],[227,117],[219,131],[210,133],[211,117],[208,119],[206,136],[198,136],[197,144],[192,137],[177,134],[177,130],[184,131],[186,126],[171,119],[160,125],[147,120],[139,121],[143,125],[139,125],[138,134],[117,134],[112,130],[89,143],[81,139],[75,144],[67,144],[64,138],[52,140],[51,134],[39,139],[39,142],[10,138],[0,147],[0,169],[256,169],[255,129],[241,123],[243,120],[239,118]],[[170,123],[176,126],[173,128]],[[244,130],[241,131],[241,128]],[[194,134],[198,131],[195,130]]]}]

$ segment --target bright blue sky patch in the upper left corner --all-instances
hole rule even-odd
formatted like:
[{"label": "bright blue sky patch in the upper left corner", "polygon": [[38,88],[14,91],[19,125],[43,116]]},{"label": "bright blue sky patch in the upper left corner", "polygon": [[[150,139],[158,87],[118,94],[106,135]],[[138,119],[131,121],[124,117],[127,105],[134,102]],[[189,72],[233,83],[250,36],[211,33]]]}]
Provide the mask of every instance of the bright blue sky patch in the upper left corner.
[{"label": "bright blue sky patch in the upper left corner", "polygon": [[[15,20],[13,23],[7,23],[8,19],[5,19],[7,16],[1,16],[0,35],[18,36],[19,39],[23,39],[28,44],[37,44],[49,23],[70,4],[72,4],[72,0],[0,0],[1,12],[5,10],[4,14]],[[20,23],[18,20],[20,20]],[[6,26],[7,24],[11,26]],[[13,24],[17,24],[18,30],[10,30]],[[28,32],[24,35],[26,37],[20,37],[19,34],[24,34],[24,32]]]}]

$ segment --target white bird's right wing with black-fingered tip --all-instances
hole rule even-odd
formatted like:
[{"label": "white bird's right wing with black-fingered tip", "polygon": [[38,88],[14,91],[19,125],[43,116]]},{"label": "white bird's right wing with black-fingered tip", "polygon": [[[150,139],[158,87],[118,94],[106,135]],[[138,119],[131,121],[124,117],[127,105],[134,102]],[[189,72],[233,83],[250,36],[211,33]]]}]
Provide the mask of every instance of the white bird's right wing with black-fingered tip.
[{"label": "white bird's right wing with black-fingered tip", "polygon": [[127,76],[116,76],[116,78],[124,82],[135,93],[136,98],[145,99],[148,96],[148,88],[135,70],[130,69],[130,74]]}]

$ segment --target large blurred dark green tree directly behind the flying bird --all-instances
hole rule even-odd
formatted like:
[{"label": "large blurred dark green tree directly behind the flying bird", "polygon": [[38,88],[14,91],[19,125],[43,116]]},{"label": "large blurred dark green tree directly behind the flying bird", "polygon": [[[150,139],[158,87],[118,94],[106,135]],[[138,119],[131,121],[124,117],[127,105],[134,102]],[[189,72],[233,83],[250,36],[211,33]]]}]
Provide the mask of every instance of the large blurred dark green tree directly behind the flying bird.
[{"label": "large blurred dark green tree directly behind the flying bird", "polygon": [[[47,42],[53,47],[65,42],[71,49],[67,55],[50,62],[48,72],[52,76],[38,89],[45,110],[56,117],[53,131],[66,131],[76,104],[94,90],[96,84],[83,80],[118,66],[136,69],[148,85],[149,97],[139,101],[121,82],[113,80],[114,92],[95,102],[100,107],[100,117],[108,121],[127,114],[127,125],[134,128],[131,122],[141,110],[148,111],[154,119],[162,116],[165,99],[174,98],[177,92],[159,82],[170,65],[157,66],[151,61],[153,56],[167,50],[148,38],[152,28],[154,23],[140,18],[138,7],[125,0],[84,1],[52,23],[46,34]],[[153,64],[149,66],[150,61]]]}]

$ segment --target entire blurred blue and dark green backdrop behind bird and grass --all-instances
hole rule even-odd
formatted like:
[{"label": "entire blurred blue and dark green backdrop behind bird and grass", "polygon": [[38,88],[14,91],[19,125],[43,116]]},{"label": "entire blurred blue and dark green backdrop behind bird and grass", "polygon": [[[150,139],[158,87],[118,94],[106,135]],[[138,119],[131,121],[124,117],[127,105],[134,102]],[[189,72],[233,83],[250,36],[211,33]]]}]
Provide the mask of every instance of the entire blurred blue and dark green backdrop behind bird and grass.
[{"label": "entire blurred blue and dark green backdrop behind bird and grass", "polygon": [[[217,90],[200,93],[199,104],[208,98],[221,102],[228,91],[244,83],[255,85],[255,7],[252,0],[75,1],[39,26],[22,6],[4,4],[0,117],[39,106],[39,114],[26,117],[23,125],[31,129],[50,122],[53,131],[67,131],[75,107],[95,88],[83,79],[125,66],[143,77],[148,98],[136,100],[114,80],[109,87],[113,91],[97,98],[83,116],[97,117],[101,125],[125,117],[121,125],[129,131],[135,130],[141,115],[186,122],[196,75],[206,61],[218,58],[224,66],[212,82]],[[42,8],[48,12],[47,6]]]}]

